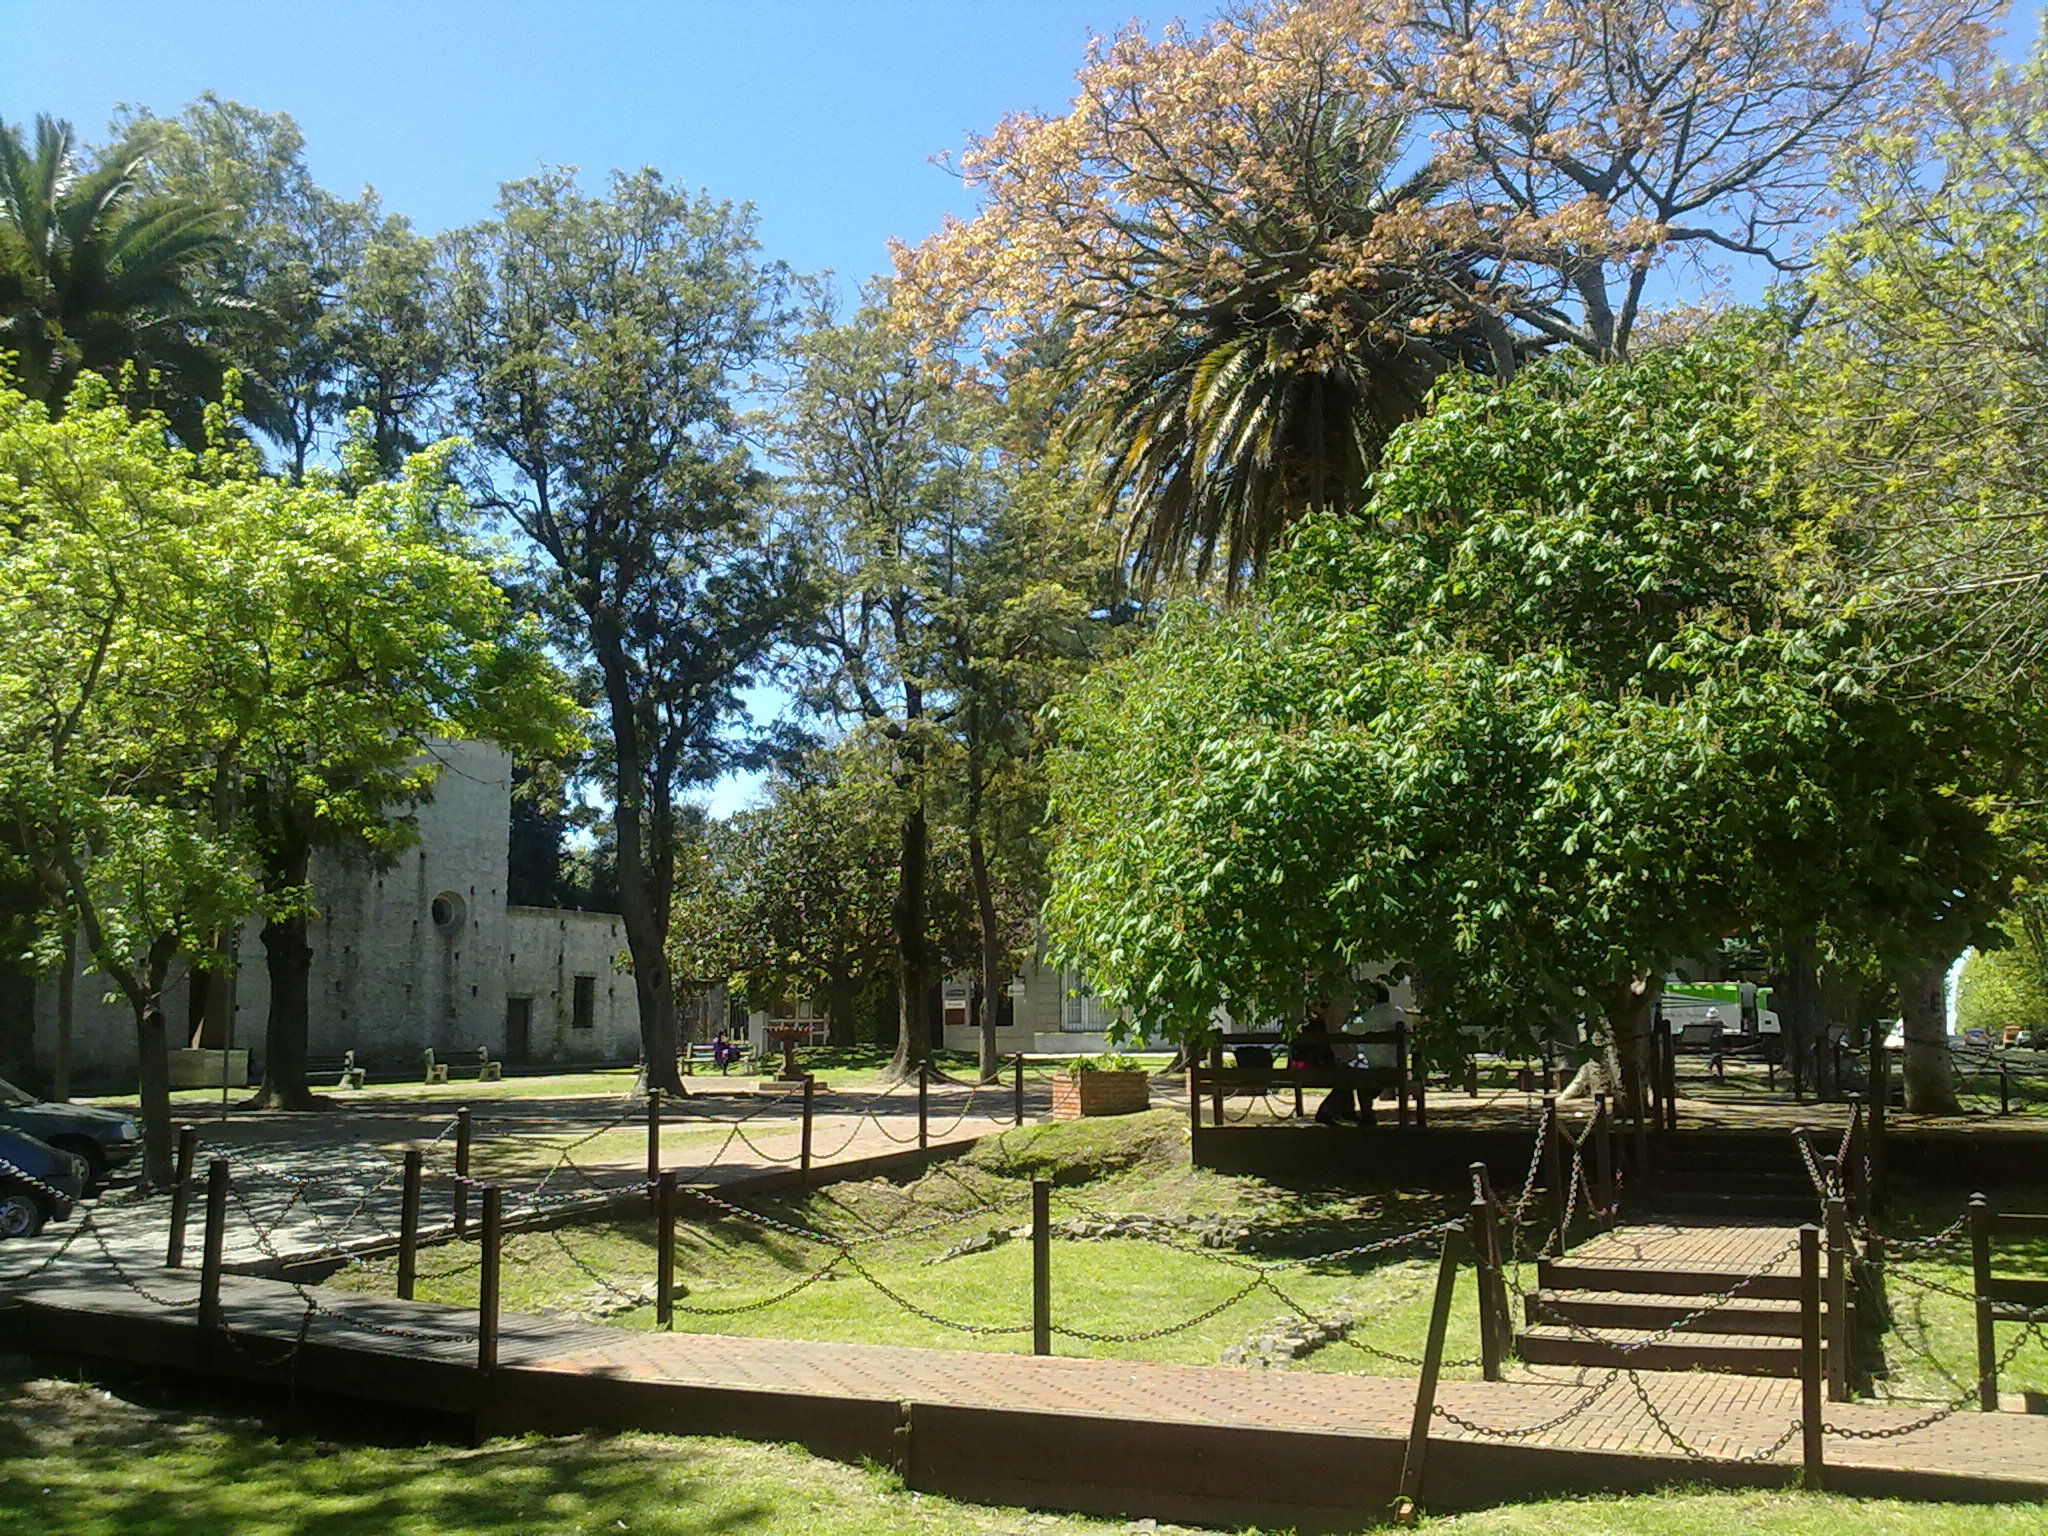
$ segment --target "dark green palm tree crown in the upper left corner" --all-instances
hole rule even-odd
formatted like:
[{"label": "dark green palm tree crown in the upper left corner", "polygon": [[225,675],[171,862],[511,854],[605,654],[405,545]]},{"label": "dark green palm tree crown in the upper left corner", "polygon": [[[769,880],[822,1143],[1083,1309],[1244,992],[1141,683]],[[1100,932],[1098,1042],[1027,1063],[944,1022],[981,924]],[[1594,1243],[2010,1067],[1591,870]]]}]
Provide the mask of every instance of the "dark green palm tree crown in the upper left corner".
[{"label": "dark green palm tree crown in the upper left corner", "polygon": [[197,442],[227,373],[209,326],[246,303],[201,291],[229,236],[217,209],[145,193],[147,154],[131,139],[84,166],[70,123],[37,117],[33,145],[0,123],[0,350],[51,412],[96,373]]}]

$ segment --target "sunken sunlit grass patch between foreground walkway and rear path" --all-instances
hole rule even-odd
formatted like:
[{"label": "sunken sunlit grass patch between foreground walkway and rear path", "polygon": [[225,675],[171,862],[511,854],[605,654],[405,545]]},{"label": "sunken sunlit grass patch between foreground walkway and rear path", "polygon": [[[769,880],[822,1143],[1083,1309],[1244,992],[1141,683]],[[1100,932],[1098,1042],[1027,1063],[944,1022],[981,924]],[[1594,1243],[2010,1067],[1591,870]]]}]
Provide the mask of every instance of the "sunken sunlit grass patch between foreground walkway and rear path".
[{"label": "sunken sunlit grass patch between foreground walkway and rear path", "polygon": [[[1053,1214],[1208,1214],[1249,1223],[1241,1251],[1184,1251],[1145,1239],[1055,1243],[1053,1321],[1077,1333],[1161,1333],[1147,1339],[1057,1337],[1059,1354],[1116,1360],[1214,1364],[1225,1348],[1286,1321],[1294,1309],[1350,1311],[1366,1321],[1348,1343],[1307,1354],[1315,1370],[1401,1374],[1374,1350],[1415,1356],[1423,1346],[1436,1245],[1393,1255],[1288,1264],[1440,1221],[1438,1196],[1290,1190],[1260,1180],[1190,1171],[1180,1118],[1171,1112],[1118,1120],[1028,1126],[993,1137],[956,1167],[911,1184],[874,1180],[811,1196],[756,1202],[762,1214],[817,1233],[862,1239],[852,1262],[836,1247],[764,1229],[692,1204],[678,1233],[676,1327],[700,1333],[817,1341],[907,1343],[1026,1352],[1030,1348],[1030,1245],[1010,1239],[987,1251],[934,1264],[954,1243],[1028,1221],[1028,1180],[1053,1178]],[[987,1202],[997,1210],[979,1212]],[[963,1221],[952,1223],[952,1217]],[[932,1223],[934,1231],[918,1231]],[[903,1233],[903,1235],[897,1235]],[[1196,1239],[1180,1239],[1194,1247]],[[422,1268],[422,1300],[475,1305],[475,1243],[434,1249]],[[1262,1274],[1260,1268],[1282,1266]],[[592,1278],[602,1276],[602,1282]],[[653,1223],[643,1217],[588,1223],[506,1239],[504,1307],[584,1311],[608,1292],[637,1292],[655,1274]],[[803,1284],[807,1282],[809,1284]],[[385,1290],[389,1268],[365,1268],[332,1284]],[[784,1294],[793,1292],[793,1294]],[[893,1294],[891,1294],[893,1292]],[[780,1296],[780,1298],[778,1298]],[[911,1303],[911,1305],[905,1305]],[[1214,1315],[1206,1315],[1214,1313]],[[653,1309],[612,1321],[653,1327]],[[1186,1323],[1186,1327],[1182,1327]],[[979,1329],[995,1329],[983,1333]],[[1468,1280],[1452,1311],[1448,1356],[1477,1354],[1477,1303]],[[1454,1376],[1473,1374],[1454,1366]]]}]

